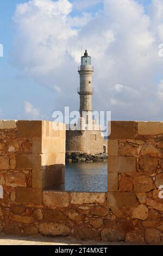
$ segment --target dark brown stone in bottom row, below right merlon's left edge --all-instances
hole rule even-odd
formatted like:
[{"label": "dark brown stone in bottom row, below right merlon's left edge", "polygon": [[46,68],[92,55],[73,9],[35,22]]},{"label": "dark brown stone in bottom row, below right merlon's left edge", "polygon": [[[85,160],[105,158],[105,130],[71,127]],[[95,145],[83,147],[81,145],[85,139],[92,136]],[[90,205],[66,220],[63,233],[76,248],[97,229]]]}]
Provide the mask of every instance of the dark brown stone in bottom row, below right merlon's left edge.
[{"label": "dark brown stone in bottom row, below right merlon's left edge", "polygon": [[125,235],[123,231],[111,228],[103,228],[101,231],[102,241],[120,242],[124,241]]}]

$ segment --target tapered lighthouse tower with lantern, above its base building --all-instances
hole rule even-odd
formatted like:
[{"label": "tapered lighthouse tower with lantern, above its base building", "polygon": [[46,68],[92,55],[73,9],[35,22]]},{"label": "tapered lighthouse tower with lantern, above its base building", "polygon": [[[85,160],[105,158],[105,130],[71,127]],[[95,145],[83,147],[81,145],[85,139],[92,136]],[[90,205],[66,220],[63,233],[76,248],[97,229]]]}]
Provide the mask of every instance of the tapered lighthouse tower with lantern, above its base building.
[{"label": "tapered lighthouse tower with lantern, above its base building", "polygon": [[92,111],[92,75],[93,67],[91,65],[91,57],[88,56],[85,50],[84,56],[81,58],[80,70],[80,117],[83,117],[83,112]]}]

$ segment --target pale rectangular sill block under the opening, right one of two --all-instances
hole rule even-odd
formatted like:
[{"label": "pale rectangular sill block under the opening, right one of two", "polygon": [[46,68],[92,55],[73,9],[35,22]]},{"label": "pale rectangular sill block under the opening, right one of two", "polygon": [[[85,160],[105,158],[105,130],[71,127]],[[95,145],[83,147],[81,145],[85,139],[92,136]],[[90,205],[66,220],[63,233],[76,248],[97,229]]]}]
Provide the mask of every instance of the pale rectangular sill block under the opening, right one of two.
[{"label": "pale rectangular sill block under the opening, right one of two", "polygon": [[105,204],[106,193],[71,192],[71,204]]}]

